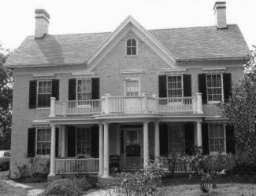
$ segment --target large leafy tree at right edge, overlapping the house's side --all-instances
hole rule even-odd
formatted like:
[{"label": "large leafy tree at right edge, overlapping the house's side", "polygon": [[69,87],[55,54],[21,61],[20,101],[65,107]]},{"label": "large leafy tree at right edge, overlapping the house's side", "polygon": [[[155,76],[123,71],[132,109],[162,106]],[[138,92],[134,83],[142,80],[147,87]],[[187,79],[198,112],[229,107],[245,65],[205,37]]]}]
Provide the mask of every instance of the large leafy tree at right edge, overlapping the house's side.
[{"label": "large leafy tree at right edge, overlapping the house's side", "polygon": [[238,154],[247,153],[248,163],[256,165],[256,47],[245,58],[244,78],[232,86],[232,96],[221,103],[222,114],[234,125]]}]

